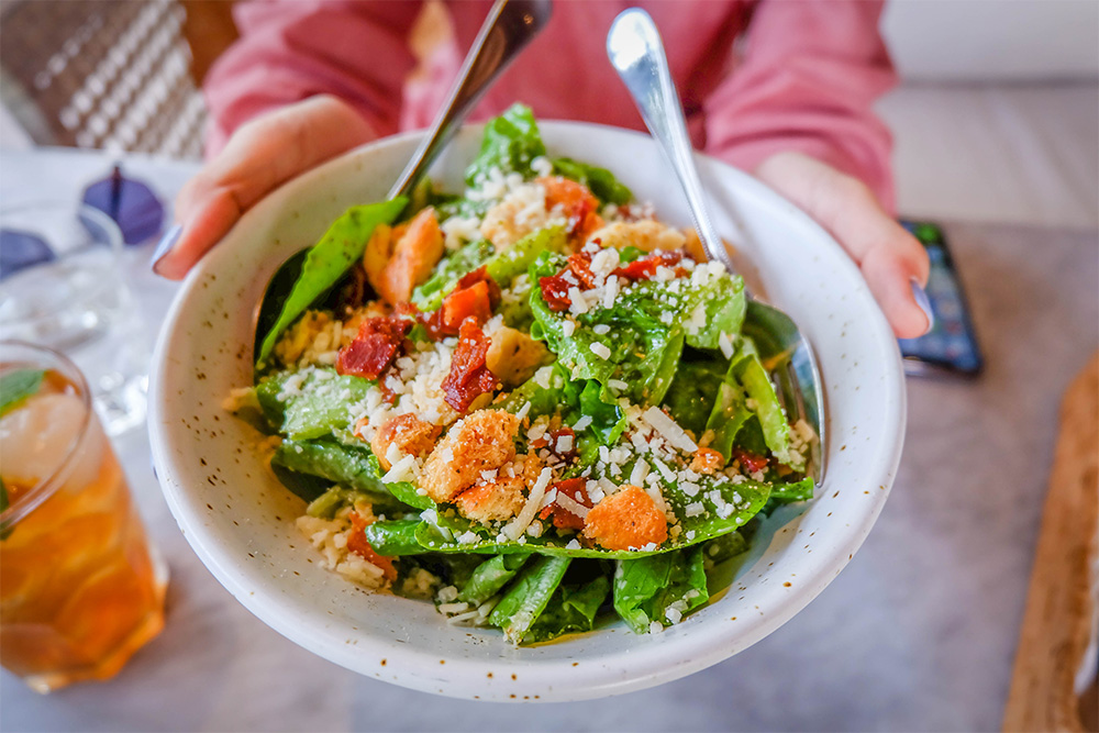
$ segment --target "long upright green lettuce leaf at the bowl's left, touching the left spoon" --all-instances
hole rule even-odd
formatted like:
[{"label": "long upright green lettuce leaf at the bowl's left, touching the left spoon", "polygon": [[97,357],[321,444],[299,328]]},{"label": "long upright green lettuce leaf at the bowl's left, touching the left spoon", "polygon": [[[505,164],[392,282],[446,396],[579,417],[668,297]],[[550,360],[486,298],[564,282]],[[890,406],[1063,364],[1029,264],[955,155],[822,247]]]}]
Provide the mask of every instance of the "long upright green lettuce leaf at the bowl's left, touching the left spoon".
[{"label": "long upright green lettuce leaf at the bowl's left, touching the left spoon", "polygon": [[270,356],[279,335],[301,315],[313,301],[329,291],[344,273],[363,256],[366,243],[378,224],[389,224],[400,215],[408,199],[352,207],[332,223],[321,241],[309,251],[293,289],[282,303],[275,325],[264,336],[256,362],[263,366]]}]

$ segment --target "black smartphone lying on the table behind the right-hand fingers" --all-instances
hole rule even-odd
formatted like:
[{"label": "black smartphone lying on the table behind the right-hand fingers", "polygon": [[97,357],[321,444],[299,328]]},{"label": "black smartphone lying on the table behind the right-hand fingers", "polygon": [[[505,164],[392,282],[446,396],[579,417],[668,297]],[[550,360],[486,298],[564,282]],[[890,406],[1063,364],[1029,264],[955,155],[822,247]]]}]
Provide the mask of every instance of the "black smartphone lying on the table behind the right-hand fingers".
[{"label": "black smartphone lying on the table behind the right-hand fingers", "polygon": [[935,315],[930,333],[919,338],[901,338],[906,374],[915,376],[980,374],[984,359],[977,346],[973,318],[962,290],[962,280],[954,268],[946,237],[937,224],[902,220],[901,225],[920,241],[931,259],[928,278],[928,300]]}]

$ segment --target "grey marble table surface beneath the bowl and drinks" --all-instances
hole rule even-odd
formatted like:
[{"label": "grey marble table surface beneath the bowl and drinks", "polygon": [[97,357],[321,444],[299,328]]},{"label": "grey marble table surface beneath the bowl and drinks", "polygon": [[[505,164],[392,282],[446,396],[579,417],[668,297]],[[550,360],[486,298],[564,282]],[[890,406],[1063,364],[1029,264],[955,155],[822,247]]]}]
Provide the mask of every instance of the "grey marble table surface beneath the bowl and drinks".
[{"label": "grey marble table surface beneath the bowl and drinks", "polygon": [[[76,195],[109,157],[5,152],[0,200]],[[166,200],[190,164],[126,171]],[[0,675],[0,730],[992,730],[1000,725],[1059,397],[1099,345],[1099,234],[947,223],[987,360],[910,380],[908,443],[876,527],[804,611],[691,677],[600,701],[490,706],[366,679],[279,636],[221,588],[159,493],[143,431],[115,441],[171,568],[164,633],[113,680],[38,696]],[[152,342],[174,286],[127,254]]]}]

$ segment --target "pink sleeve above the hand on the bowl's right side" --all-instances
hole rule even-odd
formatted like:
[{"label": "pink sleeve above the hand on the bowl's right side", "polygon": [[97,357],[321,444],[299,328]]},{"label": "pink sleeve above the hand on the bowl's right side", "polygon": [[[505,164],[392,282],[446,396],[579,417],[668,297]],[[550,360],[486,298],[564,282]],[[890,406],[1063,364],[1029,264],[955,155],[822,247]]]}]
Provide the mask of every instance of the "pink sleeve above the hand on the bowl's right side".
[{"label": "pink sleeve above the hand on the bowl's right side", "polygon": [[752,171],[798,151],[859,178],[891,211],[891,137],[872,110],[896,82],[881,4],[763,0],[743,64],[706,102],[707,152]]}]

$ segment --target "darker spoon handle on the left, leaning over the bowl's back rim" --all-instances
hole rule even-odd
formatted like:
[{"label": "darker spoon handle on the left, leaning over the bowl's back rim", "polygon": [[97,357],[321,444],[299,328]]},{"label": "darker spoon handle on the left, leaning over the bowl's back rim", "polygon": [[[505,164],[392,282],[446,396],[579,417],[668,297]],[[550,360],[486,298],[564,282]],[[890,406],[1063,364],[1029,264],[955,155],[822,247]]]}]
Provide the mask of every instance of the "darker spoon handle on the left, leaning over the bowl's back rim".
[{"label": "darker spoon handle on the left, leaning over the bowl's back rim", "polygon": [[446,146],[485,91],[550,21],[551,0],[497,0],[458,73],[451,98],[389,191],[407,196]]}]

